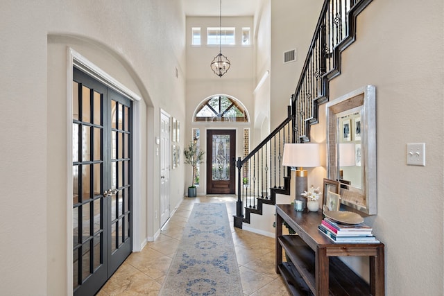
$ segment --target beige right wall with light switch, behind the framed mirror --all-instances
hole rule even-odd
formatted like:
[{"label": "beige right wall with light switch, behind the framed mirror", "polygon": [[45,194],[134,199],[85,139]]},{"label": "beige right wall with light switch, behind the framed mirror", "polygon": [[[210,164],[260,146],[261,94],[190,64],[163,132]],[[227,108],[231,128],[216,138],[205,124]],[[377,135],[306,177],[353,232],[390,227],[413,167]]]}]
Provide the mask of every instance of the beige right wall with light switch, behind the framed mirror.
[{"label": "beige right wall with light switch, behind the framed mirror", "polygon": [[[377,216],[366,223],[386,245],[386,295],[444,293],[443,19],[441,0],[373,1],[330,84],[330,99],[376,86]],[[407,166],[406,144],[418,142],[426,166]],[[366,273],[365,262],[350,263]]]}]

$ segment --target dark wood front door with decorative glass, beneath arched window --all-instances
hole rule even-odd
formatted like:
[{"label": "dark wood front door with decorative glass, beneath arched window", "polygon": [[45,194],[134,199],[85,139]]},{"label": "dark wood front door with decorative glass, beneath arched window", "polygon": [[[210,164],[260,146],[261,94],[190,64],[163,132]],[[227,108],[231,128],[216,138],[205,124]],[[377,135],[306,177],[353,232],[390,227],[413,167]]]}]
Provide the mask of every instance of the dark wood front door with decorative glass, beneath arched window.
[{"label": "dark wood front door with decorative glass, beneath arched window", "polygon": [[236,130],[207,130],[207,194],[236,193]]}]

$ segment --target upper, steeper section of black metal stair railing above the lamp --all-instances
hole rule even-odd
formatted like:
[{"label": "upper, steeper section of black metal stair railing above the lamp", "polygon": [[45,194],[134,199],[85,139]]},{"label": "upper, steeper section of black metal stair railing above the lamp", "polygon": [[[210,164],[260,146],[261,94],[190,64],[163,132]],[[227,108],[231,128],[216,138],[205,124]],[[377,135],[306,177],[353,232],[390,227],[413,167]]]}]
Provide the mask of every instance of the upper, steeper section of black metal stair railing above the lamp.
[{"label": "upper, steeper section of black metal stair railing above the lamp", "polygon": [[341,52],[356,39],[357,15],[372,0],[325,0],[292,99],[296,141],[310,138],[318,106],[328,101],[330,80],[341,73]]}]

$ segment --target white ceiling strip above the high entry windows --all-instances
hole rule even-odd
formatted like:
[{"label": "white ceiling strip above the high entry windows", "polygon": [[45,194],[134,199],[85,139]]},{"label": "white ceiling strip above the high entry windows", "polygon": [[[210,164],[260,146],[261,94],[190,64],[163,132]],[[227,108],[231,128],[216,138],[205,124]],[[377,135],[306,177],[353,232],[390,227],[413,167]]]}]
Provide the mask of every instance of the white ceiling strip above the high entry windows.
[{"label": "white ceiling strip above the high entry windows", "polygon": [[[261,0],[222,0],[222,17],[253,16]],[[220,0],[183,0],[185,15],[219,17]]]}]

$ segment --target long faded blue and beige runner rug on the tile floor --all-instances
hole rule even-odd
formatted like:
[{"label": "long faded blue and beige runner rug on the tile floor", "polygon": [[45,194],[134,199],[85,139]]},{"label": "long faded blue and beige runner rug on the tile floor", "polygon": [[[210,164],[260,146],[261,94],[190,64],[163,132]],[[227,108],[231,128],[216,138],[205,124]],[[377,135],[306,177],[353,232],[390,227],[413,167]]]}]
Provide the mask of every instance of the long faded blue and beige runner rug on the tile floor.
[{"label": "long faded blue and beige runner rug on the tile floor", "polygon": [[194,204],[159,295],[243,295],[225,204]]}]

